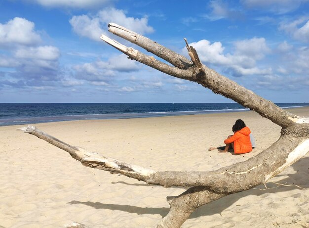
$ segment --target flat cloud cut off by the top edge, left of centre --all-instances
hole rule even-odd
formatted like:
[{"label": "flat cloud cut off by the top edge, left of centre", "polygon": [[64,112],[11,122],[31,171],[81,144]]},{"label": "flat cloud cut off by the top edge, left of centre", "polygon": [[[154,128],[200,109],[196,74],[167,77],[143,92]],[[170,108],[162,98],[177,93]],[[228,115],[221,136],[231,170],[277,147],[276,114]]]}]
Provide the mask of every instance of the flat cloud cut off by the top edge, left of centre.
[{"label": "flat cloud cut off by the top edge, left of centre", "polygon": [[46,7],[93,8],[113,0],[31,0]]}]

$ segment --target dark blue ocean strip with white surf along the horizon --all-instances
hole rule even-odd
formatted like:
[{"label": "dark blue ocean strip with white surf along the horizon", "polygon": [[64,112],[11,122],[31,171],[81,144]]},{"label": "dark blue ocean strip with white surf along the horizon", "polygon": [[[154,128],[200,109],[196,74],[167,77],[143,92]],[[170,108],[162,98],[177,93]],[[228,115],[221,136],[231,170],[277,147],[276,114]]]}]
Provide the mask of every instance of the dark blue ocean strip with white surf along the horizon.
[{"label": "dark blue ocean strip with white surf along the horizon", "polygon": [[[309,103],[276,103],[282,108]],[[0,126],[69,120],[125,119],[249,110],[237,103],[0,103]]]}]

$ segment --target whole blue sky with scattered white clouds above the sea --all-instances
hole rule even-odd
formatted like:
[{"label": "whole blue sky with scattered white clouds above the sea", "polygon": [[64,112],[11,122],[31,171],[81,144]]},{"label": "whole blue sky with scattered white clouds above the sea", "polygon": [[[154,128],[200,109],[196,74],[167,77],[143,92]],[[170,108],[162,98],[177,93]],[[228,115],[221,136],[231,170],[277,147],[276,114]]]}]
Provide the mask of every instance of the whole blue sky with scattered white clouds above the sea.
[{"label": "whole blue sky with scattered white clouds above the sea", "polygon": [[[2,0],[0,102],[231,102],[126,58],[114,22],[273,102],[309,102],[309,0]],[[149,54],[149,53],[148,53]]]}]

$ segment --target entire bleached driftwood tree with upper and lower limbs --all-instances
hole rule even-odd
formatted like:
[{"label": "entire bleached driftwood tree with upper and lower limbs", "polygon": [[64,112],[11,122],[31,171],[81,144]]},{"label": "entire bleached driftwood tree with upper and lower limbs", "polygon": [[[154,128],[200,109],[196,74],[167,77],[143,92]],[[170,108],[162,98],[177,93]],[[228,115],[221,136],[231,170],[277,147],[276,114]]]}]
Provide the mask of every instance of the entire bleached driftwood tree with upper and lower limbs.
[{"label": "entire bleached driftwood tree with upper and lower limbs", "polygon": [[309,151],[309,118],[293,115],[201,64],[195,49],[189,46],[187,41],[186,46],[191,60],[114,23],[109,24],[109,31],[143,47],[173,66],[132,47],[123,46],[104,35],[101,36],[103,41],[114,46],[129,58],[168,75],[196,82],[214,93],[222,94],[256,111],[282,127],[280,138],[268,149],[247,161],[211,172],[159,172],[146,169],[71,146],[32,126],[21,128],[25,133],[35,135],[69,152],[73,158],[85,166],[125,175],[149,184],[165,187],[190,187],[177,197],[167,197],[170,211],[155,226],[156,228],[181,227],[197,207],[226,195],[265,184]]}]

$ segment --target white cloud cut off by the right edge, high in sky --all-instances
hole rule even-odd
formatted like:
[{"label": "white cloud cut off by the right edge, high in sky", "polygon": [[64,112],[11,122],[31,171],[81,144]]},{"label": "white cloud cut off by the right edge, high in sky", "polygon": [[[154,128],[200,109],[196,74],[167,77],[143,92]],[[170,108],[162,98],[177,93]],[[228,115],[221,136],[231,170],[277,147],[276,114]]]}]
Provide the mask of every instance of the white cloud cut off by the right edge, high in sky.
[{"label": "white cloud cut off by the right edge, high in sky", "polygon": [[309,42],[308,17],[302,17],[292,22],[282,22],[279,29],[290,34],[295,40]]}]

